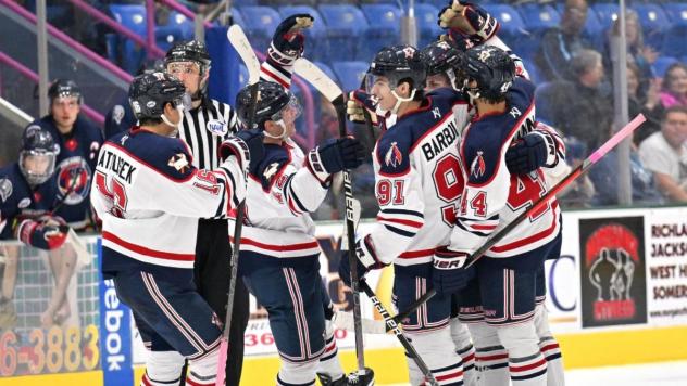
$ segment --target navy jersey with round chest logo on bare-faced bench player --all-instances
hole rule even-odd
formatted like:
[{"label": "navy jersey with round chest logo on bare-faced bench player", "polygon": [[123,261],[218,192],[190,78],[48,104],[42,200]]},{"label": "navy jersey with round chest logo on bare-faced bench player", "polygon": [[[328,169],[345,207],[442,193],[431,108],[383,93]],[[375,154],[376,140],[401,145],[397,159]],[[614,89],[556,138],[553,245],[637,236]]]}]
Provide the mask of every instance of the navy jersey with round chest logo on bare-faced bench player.
[{"label": "navy jersey with round chest logo on bare-faced bench player", "polygon": [[[80,115],[68,134],[60,133],[52,116],[48,115],[29,125],[38,125],[50,131],[59,146],[52,182],[57,186],[59,205],[54,213],[73,228],[84,228],[90,213],[90,184],[103,138],[99,128],[89,124]],[[43,186],[45,188],[45,186]],[[42,189],[40,191],[42,192]]]}]

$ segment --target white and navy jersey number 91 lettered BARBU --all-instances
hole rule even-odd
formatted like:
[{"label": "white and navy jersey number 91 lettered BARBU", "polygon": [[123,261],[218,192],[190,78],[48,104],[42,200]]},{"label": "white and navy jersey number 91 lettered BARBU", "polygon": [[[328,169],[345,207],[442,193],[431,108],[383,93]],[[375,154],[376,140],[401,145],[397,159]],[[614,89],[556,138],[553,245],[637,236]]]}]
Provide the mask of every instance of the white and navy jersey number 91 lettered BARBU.
[{"label": "white and navy jersey number 91 lettered BARBU", "polygon": [[427,263],[436,247],[448,244],[463,189],[453,107],[464,103],[457,91],[435,90],[377,141],[373,162],[379,213],[369,235],[379,261]]}]

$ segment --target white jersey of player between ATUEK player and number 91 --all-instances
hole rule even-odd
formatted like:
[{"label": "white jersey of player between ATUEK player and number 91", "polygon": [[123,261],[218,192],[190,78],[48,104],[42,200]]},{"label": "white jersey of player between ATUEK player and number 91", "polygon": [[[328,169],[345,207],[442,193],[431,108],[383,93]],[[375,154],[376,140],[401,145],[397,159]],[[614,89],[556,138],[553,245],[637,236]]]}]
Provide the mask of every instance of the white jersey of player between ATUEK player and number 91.
[{"label": "white jersey of player between ATUEK player and number 91", "polygon": [[320,254],[309,213],[322,204],[328,182],[320,181],[303,160],[303,152],[291,140],[265,144],[265,157],[251,168],[248,179],[241,252],[277,258]]}]

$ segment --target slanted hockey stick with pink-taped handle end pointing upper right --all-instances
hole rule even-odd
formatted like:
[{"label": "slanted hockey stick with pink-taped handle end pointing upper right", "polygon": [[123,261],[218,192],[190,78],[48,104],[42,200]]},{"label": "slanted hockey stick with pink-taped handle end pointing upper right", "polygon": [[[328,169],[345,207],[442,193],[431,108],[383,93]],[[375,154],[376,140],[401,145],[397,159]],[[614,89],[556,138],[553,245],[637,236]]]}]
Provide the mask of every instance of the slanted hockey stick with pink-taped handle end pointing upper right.
[{"label": "slanted hockey stick with pink-taped handle end pointing upper right", "polygon": [[[613,147],[615,147],[622,140],[627,138],[633,133],[642,123],[645,123],[647,118],[645,118],[644,114],[637,115],[633,120],[630,120],[625,127],[620,129],[610,140],[608,140],[601,147],[597,149],[594,153],[591,153],[587,159],[585,159],[578,167],[576,167],[573,171],[567,173],[559,183],[557,183],[553,188],[551,188],[545,195],[539,197],[529,208],[520,214],[515,219],[509,222],[505,227],[500,229],[494,236],[489,237],[486,243],[484,243],[479,249],[475,250],[472,255],[470,255],[463,263],[467,263],[465,268],[472,267],[477,260],[479,260],[487,250],[491,249],[499,241],[501,241],[508,233],[510,233],[515,227],[517,227],[523,220],[525,220],[533,213],[541,209],[544,205],[546,205],[549,200],[551,200],[555,194],[570,185],[573,181],[575,181],[579,176],[584,175],[589,170],[591,166],[594,166],[599,159],[603,158]],[[394,317],[395,321],[401,321],[408,318],[409,314],[414,312],[417,307],[422,306],[425,301],[429,300],[434,295],[436,295],[436,290],[432,288],[426,294],[421,296],[417,300],[415,300],[408,310],[400,312],[398,316]]]}]

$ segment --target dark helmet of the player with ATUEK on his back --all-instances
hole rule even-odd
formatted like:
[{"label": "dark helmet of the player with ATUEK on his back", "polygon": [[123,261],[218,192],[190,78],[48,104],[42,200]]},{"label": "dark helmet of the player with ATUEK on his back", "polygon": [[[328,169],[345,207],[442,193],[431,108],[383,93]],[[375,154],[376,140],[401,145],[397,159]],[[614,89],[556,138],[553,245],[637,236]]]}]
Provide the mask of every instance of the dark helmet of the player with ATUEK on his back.
[{"label": "dark helmet of the player with ATUEK on his back", "polygon": [[151,73],[134,78],[129,86],[129,103],[136,119],[161,119],[164,106],[184,105],[184,83],[166,73]]}]

